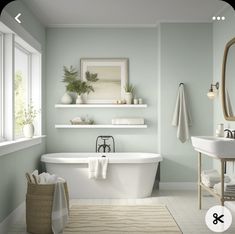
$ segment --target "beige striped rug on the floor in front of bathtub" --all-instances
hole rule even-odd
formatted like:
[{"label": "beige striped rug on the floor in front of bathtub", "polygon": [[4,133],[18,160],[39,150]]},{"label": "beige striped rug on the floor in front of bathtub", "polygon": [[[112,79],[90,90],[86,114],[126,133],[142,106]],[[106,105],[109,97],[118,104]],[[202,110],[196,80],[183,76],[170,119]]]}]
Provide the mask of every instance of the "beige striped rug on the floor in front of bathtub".
[{"label": "beige striped rug on the floor in front of bathtub", "polygon": [[164,205],[73,205],[64,234],[182,233]]}]

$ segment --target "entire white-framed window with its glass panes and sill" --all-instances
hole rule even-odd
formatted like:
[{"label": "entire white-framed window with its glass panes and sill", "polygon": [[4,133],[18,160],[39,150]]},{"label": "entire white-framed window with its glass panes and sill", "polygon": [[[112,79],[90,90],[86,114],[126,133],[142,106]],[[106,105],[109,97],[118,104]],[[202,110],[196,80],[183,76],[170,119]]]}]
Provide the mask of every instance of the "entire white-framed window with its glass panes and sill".
[{"label": "entire white-framed window with its glass panes and sill", "polygon": [[41,109],[41,45],[15,30],[21,36],[0,21],[0,156],[39,144],[42,137],[41,112],[34,120],[36,137],[22,134],[24,110],[30,104]]}]

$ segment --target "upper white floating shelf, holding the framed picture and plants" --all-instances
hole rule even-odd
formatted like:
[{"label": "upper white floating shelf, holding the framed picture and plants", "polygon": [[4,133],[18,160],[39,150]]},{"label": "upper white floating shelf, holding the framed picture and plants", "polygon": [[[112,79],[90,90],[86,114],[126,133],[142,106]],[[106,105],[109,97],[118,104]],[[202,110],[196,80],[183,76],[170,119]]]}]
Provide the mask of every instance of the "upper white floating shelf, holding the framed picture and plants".
[{"label": "upper white floating shelf, holding the framed picture and plants", "polygon": [[56,104],[55,108],[147,108],[147,104]]}]

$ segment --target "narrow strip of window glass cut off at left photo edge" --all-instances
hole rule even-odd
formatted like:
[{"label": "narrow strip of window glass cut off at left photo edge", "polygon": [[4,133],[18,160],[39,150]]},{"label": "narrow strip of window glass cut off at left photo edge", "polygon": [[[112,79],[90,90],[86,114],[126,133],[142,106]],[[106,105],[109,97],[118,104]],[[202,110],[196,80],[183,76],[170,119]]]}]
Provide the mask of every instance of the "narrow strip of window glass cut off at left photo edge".
[{"label": "narrow strip of window glass cut off at left photo edge", "polygon": [[0,142],[3,141],[3,34],[0,32]]}]

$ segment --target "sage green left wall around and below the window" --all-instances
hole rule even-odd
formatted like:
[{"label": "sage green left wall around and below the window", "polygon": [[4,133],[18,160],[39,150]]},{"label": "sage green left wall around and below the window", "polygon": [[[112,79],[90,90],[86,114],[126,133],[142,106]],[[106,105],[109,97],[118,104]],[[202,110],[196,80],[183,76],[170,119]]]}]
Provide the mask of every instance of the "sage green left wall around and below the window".
[{"label": "sage green left wall around and below the window", "polygon": [[[15,17],[19,12],[22,13],[21,26],[24,27],[35,39],[41,43],[42,54],[42,89],[43,100],[42,109],[45,109],[45,30],[44,27],[34,18],[30,11],[20,1],[7,5],[5,10]],[[42,111],[43,133],[45,134],[45,114]],[[45,152],[45,140],[42,144],[20,150],[18,152],[0,156],[0,223],[17,206],[25,200],[26,180],[25,172],[33,171],[39,167],[40,155]]]}]

